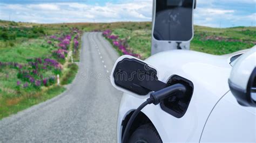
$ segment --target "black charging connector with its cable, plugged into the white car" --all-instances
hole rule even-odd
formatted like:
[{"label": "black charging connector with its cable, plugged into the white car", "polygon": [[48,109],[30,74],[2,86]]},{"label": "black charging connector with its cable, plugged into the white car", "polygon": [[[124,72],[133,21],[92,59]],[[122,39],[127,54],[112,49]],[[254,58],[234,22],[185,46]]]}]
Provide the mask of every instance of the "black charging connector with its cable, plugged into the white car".
[{"label": "black charging connector with its cable, plugged into the white car", "polygon": [[126,128],[124,130],[123,138],[122,138],[122,143],[126,142],[127,134],[129,133],[129,130],[131,128],[131,124],[133,123],[133,120],[137,117],[138,113],[146,106],[151,103],[154,105],[158,105],[163,99],[169,98],[176,92],[181,92],[179,94],[180,96],[185,95],[186,92],[186,87],[183,84],[177,83],[173,84],[169,87],[166,87],[164,89],[161,89],[159,91],[153,92],[150,94],[150,98],[147,98],[142,105],[140,105],[132,114],[131,118],[129,119]]}]

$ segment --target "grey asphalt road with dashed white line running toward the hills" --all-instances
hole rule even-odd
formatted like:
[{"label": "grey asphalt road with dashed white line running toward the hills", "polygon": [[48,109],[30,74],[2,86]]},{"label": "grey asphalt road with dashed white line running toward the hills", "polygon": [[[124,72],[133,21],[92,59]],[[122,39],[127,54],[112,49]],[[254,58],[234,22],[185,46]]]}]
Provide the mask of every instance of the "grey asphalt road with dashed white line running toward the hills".
[{"label": "grey asphalt road with dashed white line running toward the hills", "polygon": [[118,54],[84,33],[79,71],[63,94],[0,121],[0,142],[116,142],[122,92],[109,75]]}]

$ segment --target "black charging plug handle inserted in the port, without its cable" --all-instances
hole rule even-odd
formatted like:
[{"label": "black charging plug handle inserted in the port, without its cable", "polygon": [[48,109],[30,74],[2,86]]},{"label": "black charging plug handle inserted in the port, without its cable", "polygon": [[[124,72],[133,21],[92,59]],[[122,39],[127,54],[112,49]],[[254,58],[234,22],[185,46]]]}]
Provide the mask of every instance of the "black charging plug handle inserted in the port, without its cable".
[{"label": "black charging plug handle inserted in the port, without its cable", "polygon": [[150,98],[153,98],[152,103],[154,105],[157,105],[161,102],[161,100],[172,95],[175,92],[182,92],[181,96],[184,96],[186,92],[186,87],[180,83],[173,84],[170,87],[166,87],[159,91],[153,92],[152,94],[150,94]]}]

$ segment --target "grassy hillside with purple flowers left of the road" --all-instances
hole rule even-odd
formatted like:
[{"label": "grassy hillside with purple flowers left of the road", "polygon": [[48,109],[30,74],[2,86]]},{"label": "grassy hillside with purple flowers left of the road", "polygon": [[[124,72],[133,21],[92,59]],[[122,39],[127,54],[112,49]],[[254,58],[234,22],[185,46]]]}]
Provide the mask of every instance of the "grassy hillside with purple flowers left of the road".
[{"label": "grassy hillside with purple flowers left of the road", "polygon": [[81,35],[73,26],[0,22],[0,119],[65,90],[78,70],[68,53],[79,60]]}]

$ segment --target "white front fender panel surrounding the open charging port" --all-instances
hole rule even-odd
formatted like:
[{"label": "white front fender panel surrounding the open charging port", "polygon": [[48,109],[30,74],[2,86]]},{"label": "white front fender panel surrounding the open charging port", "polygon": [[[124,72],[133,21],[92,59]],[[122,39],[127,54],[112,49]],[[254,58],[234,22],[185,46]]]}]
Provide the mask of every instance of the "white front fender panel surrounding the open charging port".
[{"label": "white front fender panel surrounding the open charging port", "polygon": [[[179,75],[194,84],[190,105],[182,118],[161,110],[160,105],[147,105],[142,110],[156,127],[163,142],[199,142],[208,115],[229,91],[227,80],[232,66],[227,58],[230,57],[174,50],[152,55],[145,60],[157,68],[160,81],[166,83],[170,76]],[[121,139],[122,120],[148,97],[123,95],[118,116],[118,142]]]}]

